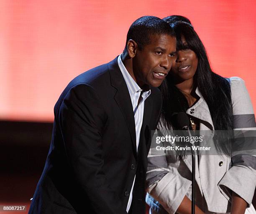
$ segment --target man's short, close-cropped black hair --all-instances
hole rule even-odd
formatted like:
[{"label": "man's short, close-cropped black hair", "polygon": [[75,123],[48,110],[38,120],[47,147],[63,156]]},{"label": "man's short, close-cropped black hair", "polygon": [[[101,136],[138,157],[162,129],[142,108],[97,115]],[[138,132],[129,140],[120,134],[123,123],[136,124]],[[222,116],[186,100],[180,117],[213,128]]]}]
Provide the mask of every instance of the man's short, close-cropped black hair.
[{"label": "man's short, close-cropped black hair", "polygon": [[174,30],[168,23],[155,16],[143,16],[134,21],[128,30],[123,54],[127,54],[127,42],[132,39],[142,50],[144,45],[151,43],[151,35],[170,35],[175,37]]}]

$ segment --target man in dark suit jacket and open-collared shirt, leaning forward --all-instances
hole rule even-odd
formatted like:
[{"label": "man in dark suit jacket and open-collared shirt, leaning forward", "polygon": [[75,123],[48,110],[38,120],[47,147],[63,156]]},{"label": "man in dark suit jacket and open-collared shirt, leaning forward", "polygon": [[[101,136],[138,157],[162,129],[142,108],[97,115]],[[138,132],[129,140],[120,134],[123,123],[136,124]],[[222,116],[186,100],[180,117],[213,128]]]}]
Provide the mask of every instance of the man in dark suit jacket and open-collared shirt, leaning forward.
[{"label": "man in dark suit jacket and open-collared shirt, leaning forward", "polygon": [[150,131],[161,110],[154,87],[175,51],[169,25],[142,17],[131,25],[122,55],[69,83],[54,107],[51,146],[29,214],[145,213]]}]

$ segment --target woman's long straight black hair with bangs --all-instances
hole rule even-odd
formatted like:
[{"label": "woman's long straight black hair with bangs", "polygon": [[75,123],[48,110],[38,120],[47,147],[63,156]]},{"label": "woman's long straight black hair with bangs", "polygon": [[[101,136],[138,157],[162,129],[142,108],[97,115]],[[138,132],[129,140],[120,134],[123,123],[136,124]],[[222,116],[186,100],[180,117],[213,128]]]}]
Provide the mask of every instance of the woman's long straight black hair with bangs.
[{"label": "woman's long straight black hair with bangs", "polygon": [[[198,87],[209,107],[214,129],[233,130],[233,110],[229,81],[212,71],[205,47],[187,18],[173,15],[163,20],[168,22],[176,33],[177,50],[189,48],[195,52],[198,58],[194,86]],[[182,42],[182,37],[187,44]],[[186,113],[189,105],[185,96],[174,86],[171,78],[170,75],[167,76],[160,87],[163,97],[161,123],[165,128],[177,129],[178,127],[173,125],[172,115],[181,111]],[[230,156],[228,136],[223,135],[221,140],[215,141],[215,146],[219,153],[222,152]]]}]

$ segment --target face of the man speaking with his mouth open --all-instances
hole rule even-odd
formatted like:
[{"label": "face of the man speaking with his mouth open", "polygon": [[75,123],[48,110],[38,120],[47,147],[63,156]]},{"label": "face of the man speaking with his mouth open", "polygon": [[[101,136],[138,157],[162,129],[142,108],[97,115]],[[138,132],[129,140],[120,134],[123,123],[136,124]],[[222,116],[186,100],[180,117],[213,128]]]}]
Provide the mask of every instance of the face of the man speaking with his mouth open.
[{"label": "face of the man speaking with his mouth open", "polygon": [[151,43],[137,50],[133,58],[133,74],[138,86],[158,87],[176,60],[176,38],[170,35],[151,35]]}]

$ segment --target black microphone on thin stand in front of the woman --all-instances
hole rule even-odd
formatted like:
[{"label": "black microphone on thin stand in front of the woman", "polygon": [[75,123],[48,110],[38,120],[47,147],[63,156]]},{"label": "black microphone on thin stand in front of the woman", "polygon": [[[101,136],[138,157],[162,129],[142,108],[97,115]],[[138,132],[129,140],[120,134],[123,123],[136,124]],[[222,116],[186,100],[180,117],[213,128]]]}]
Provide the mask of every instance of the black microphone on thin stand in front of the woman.
[{"label": "black microphone on thin stand in front of the woman", "polygon": [[[185,112],[174,113],[174,121],[176,121],[177,127],[181,130],[186,130],[191,137],[189,130],[189,118]],[[195,214],[195,152],[192,152],[192,204],[191,204],[191,214]]]}]

